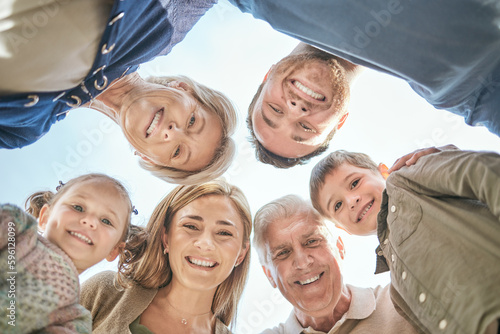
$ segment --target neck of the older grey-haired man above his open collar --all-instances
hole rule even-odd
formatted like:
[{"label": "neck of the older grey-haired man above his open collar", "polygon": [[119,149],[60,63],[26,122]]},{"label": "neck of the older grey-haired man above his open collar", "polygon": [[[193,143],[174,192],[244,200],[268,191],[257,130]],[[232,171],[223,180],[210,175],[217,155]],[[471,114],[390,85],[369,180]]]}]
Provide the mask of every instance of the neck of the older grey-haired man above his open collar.
[{"label": "neck of the older grey-haired man above his open collar", "polygon": [[304,328],[311,327],[316,331],[328,333],[333,326],[344,316],[351,305],[351,293],[343,286],[340,299],[336,305],[313,312],[294,309],[295,317]]}]

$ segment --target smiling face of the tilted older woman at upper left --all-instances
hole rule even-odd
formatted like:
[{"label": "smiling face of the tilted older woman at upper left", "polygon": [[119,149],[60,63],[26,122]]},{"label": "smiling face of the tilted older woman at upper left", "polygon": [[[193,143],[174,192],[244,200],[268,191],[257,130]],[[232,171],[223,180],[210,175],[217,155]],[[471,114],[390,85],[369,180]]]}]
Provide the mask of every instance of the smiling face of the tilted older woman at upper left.
[{"label": "smiling face of the tilted older woman at upper left", "polygon": [[203,109],[183,86],[148,83],[133,91],[121,114],[122,128],[143,159],[198,171],[213,159],[222,138],[217,115]]}]

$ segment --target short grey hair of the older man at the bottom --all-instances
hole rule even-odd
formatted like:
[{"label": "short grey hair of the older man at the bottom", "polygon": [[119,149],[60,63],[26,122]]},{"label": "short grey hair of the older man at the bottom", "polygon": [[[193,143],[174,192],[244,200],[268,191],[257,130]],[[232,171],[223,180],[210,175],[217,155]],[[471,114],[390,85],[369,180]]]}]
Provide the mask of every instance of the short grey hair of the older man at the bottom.
[{"label": "short grey hair of the older man at the bottom", "polygon": [[[315,220],[324,224],[324,220],[309,201],[297,195],[286,195],[267,203],[257,211],[254,218],[254,236],[252,243],[259,255],[262,265],[268,264],[266,249],[266,234],[270,224],[282,219],[288,219],[298,215],[312,215]],[[326,227],[326,225],[325,225]],[[333,247],[336,249],[335,247]],[[337,257],[338,260],[339,257]]]}]

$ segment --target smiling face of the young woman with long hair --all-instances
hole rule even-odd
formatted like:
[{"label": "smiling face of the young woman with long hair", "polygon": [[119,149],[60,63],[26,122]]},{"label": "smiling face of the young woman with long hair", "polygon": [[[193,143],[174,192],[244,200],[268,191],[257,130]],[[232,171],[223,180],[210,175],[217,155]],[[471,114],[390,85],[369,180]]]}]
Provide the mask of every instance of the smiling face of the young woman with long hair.
[{"label": "smiling face of the young woman with long hair", "polygon": [[163,237],[172,283],[215,292],[248,251],[243,231],[240,215],[226,196],[203,196],[179,210]]}]

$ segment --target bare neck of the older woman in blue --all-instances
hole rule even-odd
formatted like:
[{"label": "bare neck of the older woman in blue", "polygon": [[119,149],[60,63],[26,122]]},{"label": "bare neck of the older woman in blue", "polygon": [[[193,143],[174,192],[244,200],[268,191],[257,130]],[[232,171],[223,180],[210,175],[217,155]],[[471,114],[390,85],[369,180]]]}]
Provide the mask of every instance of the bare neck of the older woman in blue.
[{"label": "bare neck of the older woman in blue", "polygon": [[144,80],[136,72],[114,80],[86,107],[97,110],[119,124],[120,114],[125,109],[125,101],[130,92]]}]

